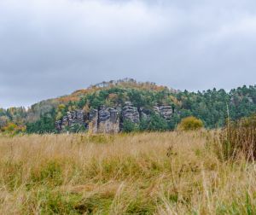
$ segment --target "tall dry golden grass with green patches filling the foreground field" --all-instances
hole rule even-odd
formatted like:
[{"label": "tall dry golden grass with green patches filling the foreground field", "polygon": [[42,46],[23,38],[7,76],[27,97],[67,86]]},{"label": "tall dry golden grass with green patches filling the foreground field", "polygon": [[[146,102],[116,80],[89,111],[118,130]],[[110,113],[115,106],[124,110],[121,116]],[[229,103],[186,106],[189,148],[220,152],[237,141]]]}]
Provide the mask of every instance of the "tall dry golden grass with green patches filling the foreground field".
[{"label": "tall dry golden grass with green patches filling the foreground field", "polygon": [[0,214],[254,214],[255,177],[209,133],[0,137]]}]

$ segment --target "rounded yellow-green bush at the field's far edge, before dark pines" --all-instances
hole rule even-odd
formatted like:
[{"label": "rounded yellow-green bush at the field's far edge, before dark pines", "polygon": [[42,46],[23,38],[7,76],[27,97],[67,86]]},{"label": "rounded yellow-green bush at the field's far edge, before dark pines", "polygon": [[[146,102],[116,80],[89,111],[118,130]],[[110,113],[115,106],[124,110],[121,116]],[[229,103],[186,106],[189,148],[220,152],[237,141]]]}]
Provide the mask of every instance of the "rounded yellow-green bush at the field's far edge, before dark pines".
[{"label": "rounded yellow-green bush at the field's far edge, before dark pines", "polygon": [[181,120],[180,124],[177,126],[177,129],[181,131],[196,131],[203,128],[203,126],[204,124],[201,119],[189,116]]}]

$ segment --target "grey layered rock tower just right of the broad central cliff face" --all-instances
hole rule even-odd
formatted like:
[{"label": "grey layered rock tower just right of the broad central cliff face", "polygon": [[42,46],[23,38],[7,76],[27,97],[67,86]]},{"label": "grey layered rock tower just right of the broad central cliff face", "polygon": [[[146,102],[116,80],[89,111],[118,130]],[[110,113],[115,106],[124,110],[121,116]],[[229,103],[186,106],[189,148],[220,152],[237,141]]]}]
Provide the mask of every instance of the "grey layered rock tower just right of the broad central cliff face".
[{"label": "grey layered rock tower just right of the broad central cliff face", "polygon": [[131,102],[125,102],[125,106],[122,109],[123,121],[130,120],[132,123],[140,122],[140,114],[137,107],[134,107]]}]

